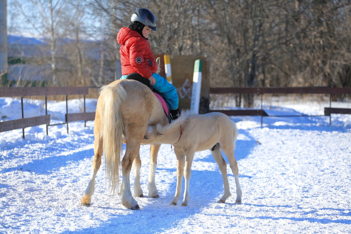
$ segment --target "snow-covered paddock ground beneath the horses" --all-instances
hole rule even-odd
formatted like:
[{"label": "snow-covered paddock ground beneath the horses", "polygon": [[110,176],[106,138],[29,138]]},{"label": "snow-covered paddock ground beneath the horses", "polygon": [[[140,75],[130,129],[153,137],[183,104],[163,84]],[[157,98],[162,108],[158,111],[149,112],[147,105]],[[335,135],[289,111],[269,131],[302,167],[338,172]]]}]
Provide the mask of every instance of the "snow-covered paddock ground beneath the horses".
[{"label": "snow-covered paddock ground beneath the horses", "polygon": [[[323,114],[329,102],[270,100],[270,114]],[[269,104],[269,106],[268,106]],[[69,102],[70,112],[82,109]],[[87,100],[94,111],[96,100]],[[333,107],[339,105],[332,103]],[[342,103],[350,105],[350,103]],[[25,117],[45,113],[42,101],[25,99]],[[2,120],[21,118],[20,101],[0,98]],[[50,102],[52,123],[63,121],[64,102]],[[236,159],[243,190],[226,203],[223,181],[210,151],[192,167],[189,206],[171,206],[176,157],[162,145],[156,170],[160,198],[147,196],[150,146],[141,146],[140,210],[128,210],[108,194],[104,162],[90,207],[79,200],[93,158],[93,121],[45,125],[0,133],[0,233],[351,233],[351,115],[329,117],[233,117],[239,128]],[[131,182],[133,181],[133,173]],[[183,182],[184,190],[184,182]]]}]

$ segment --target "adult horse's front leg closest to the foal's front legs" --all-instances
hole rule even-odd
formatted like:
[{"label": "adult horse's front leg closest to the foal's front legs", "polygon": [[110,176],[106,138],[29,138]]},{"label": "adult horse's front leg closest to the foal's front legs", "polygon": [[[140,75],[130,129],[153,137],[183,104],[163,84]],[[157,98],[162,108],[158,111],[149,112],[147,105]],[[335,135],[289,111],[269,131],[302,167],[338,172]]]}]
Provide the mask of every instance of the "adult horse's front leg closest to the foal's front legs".
[{"label": "adult horse's front leg closest to the foal's front legs", "polygon": [[149,162],[149,178],[148,189],[149,198],[159,198],[158,191],[155,183],[155,172],[157,166],[157,154],[160,149],[160,144],[151,145],[150,147],[150,162]]}]

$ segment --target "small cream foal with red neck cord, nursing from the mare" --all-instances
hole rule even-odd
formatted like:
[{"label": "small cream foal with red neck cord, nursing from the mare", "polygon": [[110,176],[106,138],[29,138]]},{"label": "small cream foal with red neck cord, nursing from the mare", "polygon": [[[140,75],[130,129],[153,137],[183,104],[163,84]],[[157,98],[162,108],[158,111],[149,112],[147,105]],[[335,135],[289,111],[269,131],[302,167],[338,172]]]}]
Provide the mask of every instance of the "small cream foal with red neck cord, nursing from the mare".
[{"label": "small cream foal with red neck cord, nursing from the mare", "polygon": [[189,111],[183,111],[180,117],[169,125],[162,126],[158,124],[148,127],[144,136],[145,141],[172,144],[174,146],[174,153],[177,156],[177,188],[171,205],[177,205],[180,198],[183,173],[185,189],[181,205],[188,205],[189,181],[194,153],[206,149],[211,149],[213,158],[216,160],[223,176],[224,195],[218,202],[224,203],[230,196],[227,164],[223,159],[221,150],[227,156],[230,168],[234,174],[237,189],[236,203],[241,202],[242,192],[239,184],[238,163],[234,157],[237,136],[238,129],[236,124],[227,115],[216,112],[198,115],[191,114]]}]

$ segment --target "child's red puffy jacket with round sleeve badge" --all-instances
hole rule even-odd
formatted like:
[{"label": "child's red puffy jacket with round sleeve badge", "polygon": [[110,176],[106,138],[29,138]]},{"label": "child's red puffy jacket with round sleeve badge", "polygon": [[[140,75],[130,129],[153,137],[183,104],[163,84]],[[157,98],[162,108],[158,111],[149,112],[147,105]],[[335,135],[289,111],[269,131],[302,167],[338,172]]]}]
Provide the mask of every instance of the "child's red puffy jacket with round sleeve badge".
[{"label": "child's red puffy jacket with round sleeve badge", "polygon": [[137,31],[122,27],[117,34],[121,45],[122,75],[139,73],[145,78],[157,72],[157,64],[149,42]]}]

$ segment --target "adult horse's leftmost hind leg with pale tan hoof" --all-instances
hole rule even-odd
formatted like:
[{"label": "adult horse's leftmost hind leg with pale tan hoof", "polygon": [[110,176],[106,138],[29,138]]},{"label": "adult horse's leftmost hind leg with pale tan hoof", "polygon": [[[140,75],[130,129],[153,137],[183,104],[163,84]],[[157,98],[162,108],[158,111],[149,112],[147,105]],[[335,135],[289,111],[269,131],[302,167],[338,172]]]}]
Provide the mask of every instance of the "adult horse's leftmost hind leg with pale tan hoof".
[{"label": "adult horse's leftmost hind leg with pale tan hoof", "polygon": [[[100,129],[99,129],[100,130]],[[93,166],[92,172],[90,175],[90,181],[88,187],[85,189],[84,195],[80,199],[80,203],[83,205],[90,205],[91,203],[91,196],[94,193],[95,189],[95,176],[98,173],[100,165],[101,165],[101,154],[102,154],[102,138],[100,138],[100,132],[98,129],[94,129],[94,159],[93,159]]]}]

